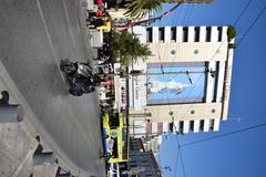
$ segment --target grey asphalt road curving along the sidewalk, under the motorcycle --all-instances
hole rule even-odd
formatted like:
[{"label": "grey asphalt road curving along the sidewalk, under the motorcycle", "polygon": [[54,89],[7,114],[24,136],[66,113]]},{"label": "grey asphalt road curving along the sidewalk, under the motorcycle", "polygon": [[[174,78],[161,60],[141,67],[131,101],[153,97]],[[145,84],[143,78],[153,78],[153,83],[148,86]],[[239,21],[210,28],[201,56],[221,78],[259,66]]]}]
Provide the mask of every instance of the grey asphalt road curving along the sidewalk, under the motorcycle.
[{"label": "grey asphalt road curving along the sidewalk, under the motorcycle", "polygon": [[92,60],[79,0],[1,0],[0,60],[53,140],[81,168],[105,176],[95,94],[74,97],[60,60]]}]

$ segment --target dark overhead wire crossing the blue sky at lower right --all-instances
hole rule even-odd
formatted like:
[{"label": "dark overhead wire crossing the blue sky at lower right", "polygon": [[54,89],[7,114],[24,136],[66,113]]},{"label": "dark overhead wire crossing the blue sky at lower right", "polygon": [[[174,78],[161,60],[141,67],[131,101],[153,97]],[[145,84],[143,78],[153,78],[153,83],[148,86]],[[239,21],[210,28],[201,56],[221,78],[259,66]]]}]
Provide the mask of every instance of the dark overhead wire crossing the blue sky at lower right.
[{"label": "dark overhead wire crossing the blue sky at lower right", "polygon": [[186,143],[186,144],[181,145],[180,147],[183,148],[183,147],[192,146],[192,145],[200,144],[200,143],[203,143],[203,142],[208,142],[208,140],[213,140],[213,139],[216,139],[216,138],[222,138],[222,137],[225,137],[225,136],[231,136],[231,135],[234,135],[234,134],[247,132],[247,131],[250,131],[250,129],[260,128],[260,127],[264,127],[264,126],[266,126],[266,123],[258,124],[258,125],[250,126],[250,127],[246,127],[246,128],[242,128],[242,129],[237,129],[237,131],[233,131],[233,132],[221,134],[221,135],[216,135],[216,136],[212,136],[212,137],[204,138],[204,139],[201,139],[201,140]]}]

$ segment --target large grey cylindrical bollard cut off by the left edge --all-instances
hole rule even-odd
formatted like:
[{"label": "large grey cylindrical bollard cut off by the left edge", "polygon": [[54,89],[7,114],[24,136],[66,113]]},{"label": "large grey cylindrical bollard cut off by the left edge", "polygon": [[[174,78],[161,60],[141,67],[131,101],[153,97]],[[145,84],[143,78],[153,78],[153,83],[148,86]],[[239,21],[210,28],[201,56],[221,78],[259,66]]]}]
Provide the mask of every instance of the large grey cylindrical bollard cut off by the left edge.
[{"label": "large grey cylindrical bollard cut off by the left edge", "polygon": [[23,121],[21,105],[0,105],[0,123],[17,123]]}]

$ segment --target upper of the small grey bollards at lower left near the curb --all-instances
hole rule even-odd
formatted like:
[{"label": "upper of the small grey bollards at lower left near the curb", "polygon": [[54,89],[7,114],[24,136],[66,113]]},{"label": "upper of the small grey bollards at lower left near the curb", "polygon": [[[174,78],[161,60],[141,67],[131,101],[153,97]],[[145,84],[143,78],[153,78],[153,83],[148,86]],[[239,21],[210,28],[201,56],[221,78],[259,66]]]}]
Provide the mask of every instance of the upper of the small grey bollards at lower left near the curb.
[{"label": "upper of the small grey bollards at lower left near the curb", "polygon": [[57,158],[53,155],[53,152],[49,153],[41,153],[41,154],[34,154],[33,162],[34,165],[44,165],[44,164],[54,164],[57,163]]}]

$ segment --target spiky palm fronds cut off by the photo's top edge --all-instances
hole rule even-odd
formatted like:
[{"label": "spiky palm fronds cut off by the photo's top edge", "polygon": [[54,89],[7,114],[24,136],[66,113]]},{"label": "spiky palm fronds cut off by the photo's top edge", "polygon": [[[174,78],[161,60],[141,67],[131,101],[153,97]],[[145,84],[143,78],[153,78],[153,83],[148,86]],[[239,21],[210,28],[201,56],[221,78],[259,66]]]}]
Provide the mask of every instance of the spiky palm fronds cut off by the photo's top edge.
[{"label": "spiky palm fronds cut off by the photo's top edge", "polygon": [[162,10],[162,0],[125,0],[125,15],[142,19],[153,11]]}]

